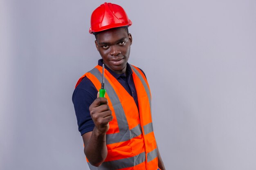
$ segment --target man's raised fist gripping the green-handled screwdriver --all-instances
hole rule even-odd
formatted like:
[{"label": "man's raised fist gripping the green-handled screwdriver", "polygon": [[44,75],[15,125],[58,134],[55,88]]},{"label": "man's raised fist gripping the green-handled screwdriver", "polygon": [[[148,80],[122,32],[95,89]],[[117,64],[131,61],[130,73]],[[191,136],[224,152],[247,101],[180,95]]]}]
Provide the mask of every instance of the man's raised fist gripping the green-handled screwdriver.
[{"label": "man's raised fist gripping the green-handled screwdriver", "polygon": [[99,97],[98,92],[97,99],[92,102],[89,110],[97,132],[105,134],[109,129],[109,122],[113,119],[108,100],[105,97]]}]

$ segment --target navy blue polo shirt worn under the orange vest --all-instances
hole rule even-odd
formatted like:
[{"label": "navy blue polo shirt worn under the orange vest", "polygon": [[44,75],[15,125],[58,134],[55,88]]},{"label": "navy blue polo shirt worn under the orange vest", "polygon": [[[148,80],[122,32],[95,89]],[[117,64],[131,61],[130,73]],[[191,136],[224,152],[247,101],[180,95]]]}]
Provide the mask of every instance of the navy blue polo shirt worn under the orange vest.
[{"label": "navy blue polo shirt worn under the orange vest", "polygon": [[[98,65],[102,66],[103,60],[98,61]],[[137,91],[132,78],[132,68],[130,64],[127,63],[126,74],[116,74],[110,70],[107,66],[105,68],[112,74],[117,81],[126,89],[126,91],[133,97],[137,107],[138,107],[138,98]],[[140,69],[141,70],[141,69]],[[142,71],[142,70],[141,70]],[[142,73],[144,73],[142,71]],[[145,73],[144,73],[145,75]],[[92,84],[91,80],[87,77],[84,77],[80,84],[75,88],[72,95],[72,102],[74,104],[76,119],[78,124],[78,130],[81,135],[86,132],[90,132],[94,128],[94,122],[90,115],[89,106],[97,98],[97,93],[99,89],[96,89]]]}]

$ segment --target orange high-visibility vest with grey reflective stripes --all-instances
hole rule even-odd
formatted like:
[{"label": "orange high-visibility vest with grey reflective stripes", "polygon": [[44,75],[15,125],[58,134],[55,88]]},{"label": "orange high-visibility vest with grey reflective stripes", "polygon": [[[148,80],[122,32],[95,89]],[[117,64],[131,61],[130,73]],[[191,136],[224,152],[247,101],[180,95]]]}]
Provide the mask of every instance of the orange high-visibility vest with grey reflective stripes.
[{"label": "orange high-visibility vest with grey reflective stripes", "polygon": [[[112,110],[113,120],[106,133],[108,155],[99,167],[91,170],[157,170],[157,145],[151,117],[151,93],[145,75],[130,65],[138,96],[137,105],[126,89],[105,70],[105,97]],[[97,89],[101,88],[102,66],[85,73]]]}]

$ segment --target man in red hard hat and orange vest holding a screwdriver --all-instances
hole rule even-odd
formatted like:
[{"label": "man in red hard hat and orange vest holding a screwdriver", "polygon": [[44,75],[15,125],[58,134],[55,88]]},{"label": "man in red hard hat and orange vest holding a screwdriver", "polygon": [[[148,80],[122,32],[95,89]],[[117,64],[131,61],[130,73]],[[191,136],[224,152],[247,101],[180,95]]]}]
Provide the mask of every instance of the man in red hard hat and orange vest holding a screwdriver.
[{"label": "man in red hard hat and orange vest holding a screwdriver", "polygon": [[[76,84],[72,101],[91,170],[165,170],[151,119],[151,94],[141,69],[128,64],[132,35],[122,7],[104,3],[90,33],[102,59]],[[106,96],[99,97],[102,65]]]}]

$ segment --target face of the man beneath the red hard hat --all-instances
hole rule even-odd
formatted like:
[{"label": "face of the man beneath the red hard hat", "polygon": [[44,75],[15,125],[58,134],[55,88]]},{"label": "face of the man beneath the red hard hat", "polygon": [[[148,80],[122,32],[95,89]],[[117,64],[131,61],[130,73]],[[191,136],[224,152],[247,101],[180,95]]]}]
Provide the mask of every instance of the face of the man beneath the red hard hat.
[{"label": "face of the man beneath the red hard hat", "polygon": [[126,72],[132,35],[125,28],[110,29],[97,34],[95,45],[103,63],[117,74]]}]

